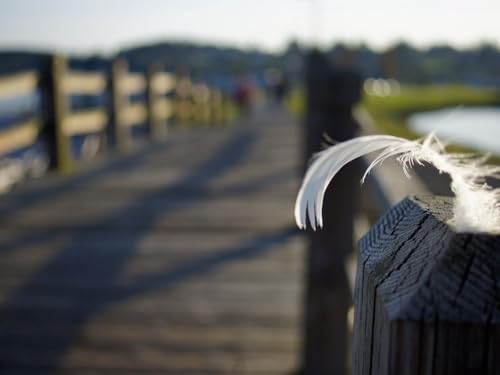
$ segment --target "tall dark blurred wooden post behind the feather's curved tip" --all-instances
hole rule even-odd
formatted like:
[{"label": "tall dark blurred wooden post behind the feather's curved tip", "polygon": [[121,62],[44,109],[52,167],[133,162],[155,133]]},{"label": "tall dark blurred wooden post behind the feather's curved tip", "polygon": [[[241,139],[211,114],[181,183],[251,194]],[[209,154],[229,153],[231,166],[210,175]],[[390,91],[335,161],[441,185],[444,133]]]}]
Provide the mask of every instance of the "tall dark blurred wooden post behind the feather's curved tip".
[{"label": "tall dark blurred wooden post behind the feather's curved tip", "polygon": [[[360,99],[361,83],[353,72],[334,70],[319,52],[307,67],[305,160],[322,149],[325,135],[336,141],[352,138],[358,125],[352,107]],[[359,173],[358,173],[359,172]],[[303,373],[342,375],[347,368],[347,312],[352,299],[345,271],[353,251],[353,220],[359,201],[361,171],[356,164],[335,177],[325,196],[324,228],[309,231]]]}]

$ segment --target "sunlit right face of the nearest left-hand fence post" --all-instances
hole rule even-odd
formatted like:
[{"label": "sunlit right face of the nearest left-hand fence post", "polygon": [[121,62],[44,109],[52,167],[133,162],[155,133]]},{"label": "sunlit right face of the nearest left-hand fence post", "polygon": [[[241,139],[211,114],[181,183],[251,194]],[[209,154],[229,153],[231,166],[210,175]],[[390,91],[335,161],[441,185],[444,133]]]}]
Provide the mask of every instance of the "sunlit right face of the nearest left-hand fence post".
[{"label": "sunlit right face of the nearest left-hand fence post", "polygon": [[69,103],[63,89],[64,77],[68,62],[63,56],[52,58],[52,109],[51,116],[54,121],[55,156],[56,166],[61,173],[70,173],[73,170],[73,156],[71,155],[71,143],[64,132],[64,121],[69,112]]}]

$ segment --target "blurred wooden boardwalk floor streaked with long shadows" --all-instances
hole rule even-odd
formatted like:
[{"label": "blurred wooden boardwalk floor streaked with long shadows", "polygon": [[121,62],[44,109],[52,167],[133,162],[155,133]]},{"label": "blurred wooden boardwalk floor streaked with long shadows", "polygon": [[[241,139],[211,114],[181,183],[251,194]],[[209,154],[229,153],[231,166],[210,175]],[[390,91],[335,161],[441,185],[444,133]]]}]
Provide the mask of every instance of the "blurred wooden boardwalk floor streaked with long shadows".
[{"label": "blurred wooden boardwalk floor streaked with long shadows", "polygon": [[299,127],[276,109],[0,199],[0,373],[298,365]]}]

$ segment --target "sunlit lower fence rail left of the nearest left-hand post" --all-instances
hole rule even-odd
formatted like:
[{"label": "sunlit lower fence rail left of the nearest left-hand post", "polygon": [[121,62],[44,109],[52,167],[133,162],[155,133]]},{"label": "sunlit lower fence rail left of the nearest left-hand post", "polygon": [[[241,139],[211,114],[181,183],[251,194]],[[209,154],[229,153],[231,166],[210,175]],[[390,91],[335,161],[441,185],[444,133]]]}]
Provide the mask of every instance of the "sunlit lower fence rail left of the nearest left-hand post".
[{"label": "sunlit lower fence rail left of the nearest left-hand post", "polygon": [[31,119],[22,123],[13,124],[8,129],[0,131],[0,155],[33,144],[40,131],[38,119]]}]

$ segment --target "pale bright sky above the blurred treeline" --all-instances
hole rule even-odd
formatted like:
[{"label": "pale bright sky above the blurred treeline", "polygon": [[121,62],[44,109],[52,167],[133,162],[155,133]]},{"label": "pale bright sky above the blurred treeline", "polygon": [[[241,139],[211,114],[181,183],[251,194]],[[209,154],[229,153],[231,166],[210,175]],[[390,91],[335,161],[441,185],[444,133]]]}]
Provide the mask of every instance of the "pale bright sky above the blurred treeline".
[{"label": "pale bright sky above the blurred treeline", "polygon": [[500,0],[0,0],[0,49],[111,54],[172,39],[268,51],[294,39],[500,47],[499,15]]}]

